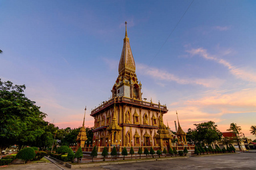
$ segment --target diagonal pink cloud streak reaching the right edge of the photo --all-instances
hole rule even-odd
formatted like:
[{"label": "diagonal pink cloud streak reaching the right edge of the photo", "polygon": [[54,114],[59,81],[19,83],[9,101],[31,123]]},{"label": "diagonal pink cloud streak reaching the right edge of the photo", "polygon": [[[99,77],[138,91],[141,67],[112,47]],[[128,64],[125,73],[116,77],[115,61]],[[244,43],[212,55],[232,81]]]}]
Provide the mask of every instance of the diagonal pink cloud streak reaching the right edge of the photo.
[{"label": "diagonal pink cloud streak reaching the right edge of the photo", "polygon": [[[191,49],[191,50],[187,50],[187,52],[189,54],[191,54],[192,56],[199,55],[205,59],[209,59],[209,60],[215,61],[217,63],[220,63],[221,65],[227,67],[228,70],[230,71],[230,73],[237,76],[237,78],[240,78],[240,79],[243,79],[243,80],[246,80],[249,82],[256,82],[256,74],[251,74],[248,71],[245,71],[241,68],[237,68],[236,66],[232,65],[225,59],[221,59],[221,58],[212,56],[204,48]],[[227,52],[227,53],[230,53],[230,52]]]}]

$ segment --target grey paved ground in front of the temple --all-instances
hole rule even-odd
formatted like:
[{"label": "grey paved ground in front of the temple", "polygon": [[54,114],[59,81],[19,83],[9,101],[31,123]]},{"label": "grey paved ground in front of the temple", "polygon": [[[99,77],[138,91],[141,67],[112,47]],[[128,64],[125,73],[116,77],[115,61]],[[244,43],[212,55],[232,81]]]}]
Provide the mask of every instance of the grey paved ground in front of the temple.
[{"label": "grey paved ground in front of the temple", "polygon": [[[118,165],[104,165],[102,167],[79,168],[86,170],[126,170],[126,169],[256,169],[256,153],[239,153],[231,155],[192,157],[188,159],[162,160],[158,162],[126,163]],[[57,164],[57,163],[56,163]],[[69,169],[55,163],[9,165],[4,169]]]}]

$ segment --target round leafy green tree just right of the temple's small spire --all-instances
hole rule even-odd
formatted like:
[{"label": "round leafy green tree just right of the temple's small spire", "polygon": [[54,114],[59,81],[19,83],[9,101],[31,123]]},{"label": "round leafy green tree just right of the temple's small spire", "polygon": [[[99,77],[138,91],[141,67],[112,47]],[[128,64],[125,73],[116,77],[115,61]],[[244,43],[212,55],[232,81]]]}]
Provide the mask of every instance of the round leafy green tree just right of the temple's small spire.
[{"label": "round leafy green tree just right of the temple's small spire", "polygon": [[200,145],[200,143],[213,143],[220,141],[222,133],[217,129],[217,125],[213,121],[204,122],[201,124],[194,124],[196,129],[192,130],[193,141]]}]

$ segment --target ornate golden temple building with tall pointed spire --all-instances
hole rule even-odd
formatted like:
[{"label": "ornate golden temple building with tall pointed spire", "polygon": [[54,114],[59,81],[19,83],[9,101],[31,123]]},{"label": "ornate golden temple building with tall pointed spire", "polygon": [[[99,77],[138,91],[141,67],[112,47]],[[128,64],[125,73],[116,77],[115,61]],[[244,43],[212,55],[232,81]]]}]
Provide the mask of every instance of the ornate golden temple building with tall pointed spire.
[{"label": "ornate golden temple building with tall pointed spire", "polygon": [[112,97],[90,114],[94,117],[93,145],[170,148],[172,135],[163,123],[167,107],[142,100],[142,84],[135,71],[126,28]]}]

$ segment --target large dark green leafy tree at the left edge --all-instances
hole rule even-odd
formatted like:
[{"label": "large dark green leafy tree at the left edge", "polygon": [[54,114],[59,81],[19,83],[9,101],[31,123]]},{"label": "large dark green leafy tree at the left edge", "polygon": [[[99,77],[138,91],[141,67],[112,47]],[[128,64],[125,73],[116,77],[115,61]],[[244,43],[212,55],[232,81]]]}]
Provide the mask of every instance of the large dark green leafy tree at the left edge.
[{"label": "large dark green leafy tree at the left edge", "polygon": [[0,79],[0,152],[9,145],[32,145],[44,133],[47,114],[24,94],[25,85]]}]

